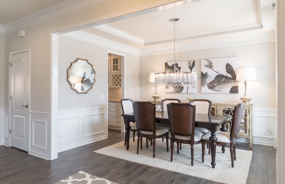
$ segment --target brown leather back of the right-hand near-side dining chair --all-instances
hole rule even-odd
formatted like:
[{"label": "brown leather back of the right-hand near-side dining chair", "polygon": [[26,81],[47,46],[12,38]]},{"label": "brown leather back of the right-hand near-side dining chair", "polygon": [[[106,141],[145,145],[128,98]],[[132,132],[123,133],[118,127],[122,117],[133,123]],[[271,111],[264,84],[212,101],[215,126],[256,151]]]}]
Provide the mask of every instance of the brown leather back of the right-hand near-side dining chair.
[{"label": "brown leather back of the right-hand near-side dining chair", "polygon": [[[169,103],[167,105],[171,137],[191,136],[195,134],[195,105],[187,103]],[[175,136],[174,136],[175,138]]]}]

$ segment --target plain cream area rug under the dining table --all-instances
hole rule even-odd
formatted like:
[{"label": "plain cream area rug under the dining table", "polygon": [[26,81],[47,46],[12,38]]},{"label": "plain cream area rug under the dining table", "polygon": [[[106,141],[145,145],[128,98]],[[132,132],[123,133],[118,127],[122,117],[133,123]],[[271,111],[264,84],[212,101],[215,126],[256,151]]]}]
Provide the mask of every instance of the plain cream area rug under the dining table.
[{"label": "plain cream area rug under the dining table", "polygon": [[152,157],[152,146],[150,143],[148,148],[146,148],[145,138],[143,138],[143,148],[139,149],[138,155],[137,138],[135,142],[133,142],[133,139],[130,139],[129,146],[130,148],[127,151],[124,141],[122,141],[94,152],[225,184],[245,184],[252,157],[252,151],[236,149],[237,160],[234,161],[235,165],[232,168],[229,148],[225,148],[225,153],[222,153],[221,147],[217,146],[217,165],[213,169],[208,149],[206,149],[205,161],[202,163],[202,144],[194,145],[194,166],[191,166],[191,147],[187,144],[182,144],[182,150],[179,151],[179,154],[177,154],[177,144],[174,144],[172,162],[170,162],[170,141],[169,152],[167,152],[165,139],[164,142],[161,139],[156,139],[155,158]]}]

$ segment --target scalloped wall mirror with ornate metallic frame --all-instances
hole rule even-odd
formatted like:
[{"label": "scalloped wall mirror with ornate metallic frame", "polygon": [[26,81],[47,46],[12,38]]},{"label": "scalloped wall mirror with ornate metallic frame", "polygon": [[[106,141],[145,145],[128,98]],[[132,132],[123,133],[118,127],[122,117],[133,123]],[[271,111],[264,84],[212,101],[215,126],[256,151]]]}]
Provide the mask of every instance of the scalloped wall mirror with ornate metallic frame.
[{"label": "scalloped wall mirror with ornate metallic frame", "polygon": [[67,81],[76,93],[88,93],[96,82],[93,65],[87,59],[76,59],[67,70]]}]

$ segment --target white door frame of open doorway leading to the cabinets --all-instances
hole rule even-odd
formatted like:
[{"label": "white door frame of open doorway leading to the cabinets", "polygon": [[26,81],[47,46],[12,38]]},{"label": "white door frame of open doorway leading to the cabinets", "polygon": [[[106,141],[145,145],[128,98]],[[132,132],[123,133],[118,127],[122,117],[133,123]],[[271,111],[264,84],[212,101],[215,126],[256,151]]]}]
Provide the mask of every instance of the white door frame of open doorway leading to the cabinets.
[{"label": "white door frame of open doorway leading to the cabinets", "polygon": [[[122,75],[122,79],[121,79],[121,98],[124,99],[127,96],[127,90],[126,90],[126,74],[127,74],[127,55],[120,53],[120,52],[116,52],[116,51],[112,51],[112,50],[107,50],[107,56],[106,56],[106,62],[107,62],[107,71],[108,71],[108,54],[112,53],[112,54],[116,54],[118,56],[122,56],[122,58],[124,58],[124,61],[121,60],[121,75]],[[107,84],[108,84],[108,72],[107,72]],[[107,85],[107,104],[108,104],[108,85]],[[108,114],[107,114],[107,122],[108,122]],[[108,123],[107,123],[107,130],[108,130]],[[125,132],[125,123],[123,118],[121,117],[121,132]],[[108,135],[108,134],[107,134]]]}]

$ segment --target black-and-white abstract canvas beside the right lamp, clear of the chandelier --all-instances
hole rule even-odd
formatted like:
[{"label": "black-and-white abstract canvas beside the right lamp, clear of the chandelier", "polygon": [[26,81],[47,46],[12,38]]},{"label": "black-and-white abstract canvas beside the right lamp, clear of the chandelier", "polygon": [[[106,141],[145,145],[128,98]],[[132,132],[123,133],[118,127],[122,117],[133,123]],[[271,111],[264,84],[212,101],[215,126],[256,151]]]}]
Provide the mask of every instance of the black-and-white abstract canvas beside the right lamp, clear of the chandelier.
[{"label": "black-and-white abstract canvas beside the right lamp, clear of the chandelier", "polygon": [[201,59],[202,93],[238,93],[238,57]]}]

